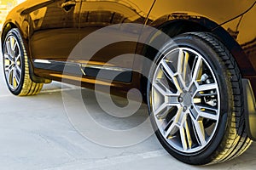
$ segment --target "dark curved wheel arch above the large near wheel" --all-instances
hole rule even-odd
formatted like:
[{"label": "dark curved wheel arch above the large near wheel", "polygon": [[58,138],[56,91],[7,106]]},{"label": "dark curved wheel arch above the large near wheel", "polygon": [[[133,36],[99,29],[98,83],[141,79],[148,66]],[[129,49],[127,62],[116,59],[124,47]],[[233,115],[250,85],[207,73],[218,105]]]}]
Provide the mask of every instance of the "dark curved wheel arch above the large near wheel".
[{"label": "dark curved wheel arch above the large near wheel", "polygon": [[[188,14],[171,14],[168,15],[168,20],[160,22],[166,16],[155,20],[151,26],[166,33],[166,35],[175,37],[179,34],[191,31],[207,31],[212,33],[220,42],[223,42],[225,47],[236,59],[236,62],[241,70],[241,75],[255,75],[253,65],[244,53],[241,45],[236,42],[236,37],[232,37],[229,31],[226,31],[223,25],[218,25],[216,22],[207,19],[206,17],[188,15]],[[153,36],[154,37],[154,36]],[[152,40],[150,40],[152,41]]]}]

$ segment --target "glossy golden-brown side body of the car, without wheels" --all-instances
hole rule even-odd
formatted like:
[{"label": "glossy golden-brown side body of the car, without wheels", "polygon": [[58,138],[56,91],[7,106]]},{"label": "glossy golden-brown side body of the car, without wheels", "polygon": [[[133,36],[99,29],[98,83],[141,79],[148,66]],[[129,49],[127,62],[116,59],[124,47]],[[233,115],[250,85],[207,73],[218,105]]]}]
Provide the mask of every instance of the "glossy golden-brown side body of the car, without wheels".
[{"label": "glossy golden-brown side body of the car, without wheels", "polygon": [[[135,23],[152,26],[170,37],[190,31],[211,32],[224,43],[236,59],[242,78],[248,80],[249,88],[253,88],[251,91],[247,90],[246,93],[253,93],[251,96],[254,100],[254,95],[256,95],[256,22],[254,21],[256,4],[254,0],[242,3],[239,0],[207,3],[203,0],[195,0],[193,3],[189,0],[177,2],[173,0],[149,0],[147,3],[141,0],[76,0],[74,2],[77,3],[77,7],[70,11],[64,11],[61,4],[65,2],[67,1],[28,0],[10,12],[3,26],[2,42],[11,28],[16,27],[20,30],[25,46],[29,49],[30,69],[33,73],[31,77],[34,82],[49,82],[49,79],[61,81],[64,78],[67,82],[79,84],[80,79],[78,81],[76,76],[62,75],[61,69],[58,69],[63,67],[61,64],[67,64],[66,60],[77,43],[93,31],[105,26]],[[149,44],[158,37],[153,32],[148,35],[151,35],[148,38]],[[114,48],[118,48],[118,50],[113,50]],[[154,52],[148,54],[145,47],[140,47],[137,43],[126,42],[126,45],[116,43],[98,53],[90,65],[101,67],[109,59],[113,59],[114,56],[124,52],[142,54],[149,59],[154,59],[155,55]],[[106,58],[104,54],[107,53],[109,57]],[[72,61],[72,63],[83,64],[87,62],[88,60],[83,57],[81,56],[81,59]],[[55,68],[49,69],[49,65],[42,63],[40,65],[40,63],[35,62],[36,59],[55,62]],[[128,70],[143,69],[143,65],[137,65],[138,62],[131,58],[125,60],[122,65]],[[114,65],[114,68],[120,68],[122,65]],[[77,69],[79,71],[79,68]],[[90,77],[83,77],[82,85],[85,88],[94,88],[96,81],[93,74],[92,71]],[[145,80],[137,72],[127,73],[123,77],[128,77],[128,79],[112,82],[113,94],[125,96],[131,88],[145,90],[142,85]],[[254,108],[255,105],[248,105],[247,112],[251,112],[247,115],[255,117]],[[252,119],[254,118],[251,118],[249,124],[252,124]],[[250,122],[249,120],[248,116],[247,122]],[[256,139],[256,133],[252,130],[253,127],[250,129],[250,125],[248,125],[247,128],[248,134],[251,134],[250,137]]]}]

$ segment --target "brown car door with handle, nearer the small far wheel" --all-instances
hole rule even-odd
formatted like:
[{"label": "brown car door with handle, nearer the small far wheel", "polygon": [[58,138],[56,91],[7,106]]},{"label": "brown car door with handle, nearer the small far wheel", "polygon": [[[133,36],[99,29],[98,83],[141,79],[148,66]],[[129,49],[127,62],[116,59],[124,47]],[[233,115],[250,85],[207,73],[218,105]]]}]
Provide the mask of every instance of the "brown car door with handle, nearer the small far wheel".
[{"label": "brown car door with handle, nearer the small far wheel", "polygon": [[36,66],[42,59],[67,60],[79,41],[80,3],[80,0],[52,0],[30,12],[29,42]]}]

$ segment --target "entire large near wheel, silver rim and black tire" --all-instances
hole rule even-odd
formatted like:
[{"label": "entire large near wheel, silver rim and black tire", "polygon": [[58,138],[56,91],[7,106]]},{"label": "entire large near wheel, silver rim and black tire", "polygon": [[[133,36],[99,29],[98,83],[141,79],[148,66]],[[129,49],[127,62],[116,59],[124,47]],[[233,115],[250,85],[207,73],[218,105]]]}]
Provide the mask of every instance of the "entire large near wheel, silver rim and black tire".
[{"label": "entire large near wheel, silver rim and black tire", "polygon": [[223,43],[209,33],[174,37],[150,71],[148,110],[164,148],[202,165],[241,155],[252,143],[243,116],[241,74]]}]

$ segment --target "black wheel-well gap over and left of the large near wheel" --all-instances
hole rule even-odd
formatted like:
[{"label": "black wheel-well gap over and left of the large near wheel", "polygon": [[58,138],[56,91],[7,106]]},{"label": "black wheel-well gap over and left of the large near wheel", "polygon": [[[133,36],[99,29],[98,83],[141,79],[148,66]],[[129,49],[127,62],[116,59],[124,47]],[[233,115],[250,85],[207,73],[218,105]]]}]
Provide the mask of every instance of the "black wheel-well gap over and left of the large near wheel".
[{"label": "black wheel-well gap over and left of the large near wheel", "polygon": [[[189,16],[187,14],[172,14],[163,16],[160,19],[155,20],[149,26],[153,26],[154,28],[163,31],[171,38],[179,34],[192,31],[210,32],[214,37],[222,42],[224,46],[228,48],[230,53],[234,56],[234,58],[236,59],[236,63],[241,71],[242,77],[256,74],[256,72],[253,70],[253,65],[250,63],[249,59],[247,59],[247,55],[244,53],[240,44],[236,42],[236,39],[232,37],[230,33],[224,29],[223,26],[218,25],[212,20],[209,20],[205,17],[192,15]],[[157,36],[157,34],[158,33],[153,33],[150,35],[147,41],[148,45],[145,45],[141,52],[143,56],[147,56],[147,58],[151,60],[154,60],[154,57],[157,54],[157,50],[151,48],[150,44],[154,43],[154,40],[160,37]],[[148,69],[148,67],[142,69]],[[147,82],[148,79],[146,77],[141,77],[140,88],[142,90],[143,96],[146,96],[147,93],[147,88],[144,86],[145,84],[147,84]]]}]

